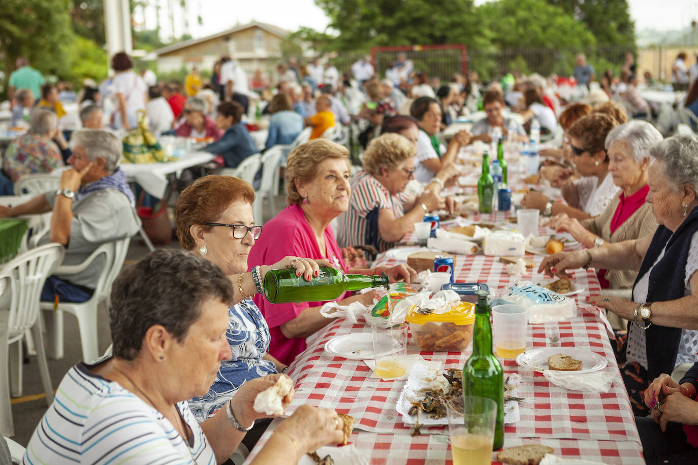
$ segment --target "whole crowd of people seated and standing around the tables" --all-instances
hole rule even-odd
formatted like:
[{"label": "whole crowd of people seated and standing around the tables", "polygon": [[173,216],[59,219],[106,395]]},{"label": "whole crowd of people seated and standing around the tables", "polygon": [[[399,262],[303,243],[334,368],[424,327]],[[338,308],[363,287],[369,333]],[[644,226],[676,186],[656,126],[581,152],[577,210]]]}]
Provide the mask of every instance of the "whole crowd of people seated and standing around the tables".
[{"label": "whole crowd of people seated and standing around the tables", "polygon": [[[309,280],[318,266],[334,266],[411,282],[416,273],[409,266],[369,269],[354,263],[353,247],[383,252],[426,213],[458,211],[461,206],[443,190],[461,174],[456,158],[462,148],[498,138],[519,146],[538,135],[555,146],[540,151],[539,182],[559,188],[564,201],[531,190],[521,206],[550,216],[552,228],[586,246],[553,254],[540,271],[566,276],[593,266],[602,294],[632,288],[631,298],[590,301],[607,310],[618,331],[616,357],[645,457],[694,453],[698,364],[681,383],[669,374],[695,362],[698,351],[698,317],[692,314],[698,139],[664,139],[653,126],[651,108],[639,100],[632,58],[626,57],[619,79],[606,72],[596,81],[579,54],[577,84],[598,87],[569,102],[556,91],[554,76],[505,73],[483,86],[476,73],[456,73],[449,84],[435,87],[405,54],[383,79],[369,57],[343,74],[329,61],[290,60],[279,63],[274,86],[261,72],[247,79],[228,57],[216,63],[209,82],[192,68],[181,84],[158,83],[154,75],[136,73],[128,55],[116,54],[113,77],[73,96],[85,129],[70,135],[70,146],[59,119],[61,99],[72,90],[45,84],[27,61],[17,63],[19,75],[10,79],[13,119],[28,119],[29,132],[8,147],[4,175],[13,182],[69,167],[57,192],[0,207],[0,217],[52,212],[45,241],[67,247],[66,264],[140,228],[133,193],[119,169],[121,140],[114,135],[135,128],[139,110],[156,135],[209,140],[206,150],[222,155],[228,167],[290,144],[312,128],[309,142],[288,153],[288,206],[263,227],[253,217],[255,190],[245,181],[203,176],[181,191],[174,210],[182,251],[153,252],[114,283],[113,355],[84,360],[66,375],[32,436],[27,463],[64,454],[77,462],[107,462],[122,459],[126,450],[144,461],[191,457],[220,463],[241,442],[251,448],[270,421],[251,408],[256,393],[286,376],[306,349],[306,337],[333,321],[320,314],[322,302],[267,302],[260,285],[266,273],[293,268]],[[697,89],[691,84],[688,96],[698,95]],[[445,128],[478,107],[482,118],[470,130],[444,137]],[[255,108],[269,114],[263,147],[246,125]],[[362,166],[355,170],[348,148],[323,137],[352,122],[361,122],[357,137],[364,146]],[[416,191],[410,188],[414,181]],[[52,276],[43,298],[84,301],[96,276],[94,268]],[[148,280],[152,276],[158,276],[156,284]],[[337,302],[372,299],[371,293],[346,293]],[[89,432],[98,427],[109,434],[95,448]],[[138,442],[143,436],[153,445]],[[304,406],[281,423],[255,463],[296,463],[305,452],[340,441],[336,412]]]}]

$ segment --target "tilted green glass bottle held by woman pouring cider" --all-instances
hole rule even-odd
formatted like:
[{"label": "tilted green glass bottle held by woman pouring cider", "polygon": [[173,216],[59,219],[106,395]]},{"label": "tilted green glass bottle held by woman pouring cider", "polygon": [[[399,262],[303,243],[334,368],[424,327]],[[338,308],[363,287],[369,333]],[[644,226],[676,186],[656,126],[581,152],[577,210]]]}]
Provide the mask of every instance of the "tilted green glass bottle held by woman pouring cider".
[{"label": "tilted green glass bottle held by woman pouring cider", "polygon": [[344,291],[358,291],[366,287],[388,287],[385,273],[379,275],[345,275],[336,268],[320,266],[318,276],[306,281],[296,276],[296,270],[270,270],[264,278],[264,294],[271,303],[325,302],[334,300]]}]

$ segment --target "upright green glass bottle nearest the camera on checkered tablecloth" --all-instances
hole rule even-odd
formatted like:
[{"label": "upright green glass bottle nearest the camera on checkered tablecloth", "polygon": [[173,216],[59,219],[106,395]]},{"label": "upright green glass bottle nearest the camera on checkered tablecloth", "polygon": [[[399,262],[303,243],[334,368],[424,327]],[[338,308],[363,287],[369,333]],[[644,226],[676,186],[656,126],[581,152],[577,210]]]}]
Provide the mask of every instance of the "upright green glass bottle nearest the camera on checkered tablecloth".
[{"label": "upright green glass bottle nearest the camera on checkered tablecloth", "polygon": [[492,450],[504,445],[504,372],[492,353],[492,329],[489,324],[488,291],[475,291],[475,327],[473,355],[463,365],[463,396],[480,396],[497,402]]}]

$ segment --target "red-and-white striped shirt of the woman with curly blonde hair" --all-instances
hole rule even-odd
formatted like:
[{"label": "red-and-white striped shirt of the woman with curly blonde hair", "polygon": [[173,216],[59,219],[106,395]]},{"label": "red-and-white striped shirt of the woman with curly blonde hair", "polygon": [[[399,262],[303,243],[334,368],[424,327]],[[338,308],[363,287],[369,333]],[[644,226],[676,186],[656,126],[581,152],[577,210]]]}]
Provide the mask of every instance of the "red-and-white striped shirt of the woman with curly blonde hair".
[{"label": "red-and-white striped shirt of the woman with curly blonde hair", "polygon": [[[360,171],[351,181],[349,209],[339,217],[337,236],[339,247],[364,245],[366,243],[366,227],[368,227],[366,215],[373,208],[378,207],[379,210],[388,208],[395,215],[395,218],[401,218],[405,215],[402,204],[409,197],[407,192],[390,195],[390,192],[378,179],[365,171]],[[383,241],[383,238],[378,238],[378,252],[388,250],[393,245],[394,243],[388,243]]]}]

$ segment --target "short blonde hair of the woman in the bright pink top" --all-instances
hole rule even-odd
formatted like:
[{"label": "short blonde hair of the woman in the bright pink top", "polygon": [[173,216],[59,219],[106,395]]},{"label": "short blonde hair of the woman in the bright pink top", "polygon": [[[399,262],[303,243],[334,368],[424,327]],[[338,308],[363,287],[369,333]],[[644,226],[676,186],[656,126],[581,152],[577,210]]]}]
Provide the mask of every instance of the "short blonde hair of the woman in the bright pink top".
[{"label": "short blonde hair of the woman in the bright pink top", "polygon": [[298,193],[296,180],[309,183],[318,172],[318,165],[327,158],[342,158],[349,165],[349,151],[346,147],[327,139],[314,139],[294,148],[286,160],[286,202],[298,205],[303,197]]}]

